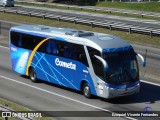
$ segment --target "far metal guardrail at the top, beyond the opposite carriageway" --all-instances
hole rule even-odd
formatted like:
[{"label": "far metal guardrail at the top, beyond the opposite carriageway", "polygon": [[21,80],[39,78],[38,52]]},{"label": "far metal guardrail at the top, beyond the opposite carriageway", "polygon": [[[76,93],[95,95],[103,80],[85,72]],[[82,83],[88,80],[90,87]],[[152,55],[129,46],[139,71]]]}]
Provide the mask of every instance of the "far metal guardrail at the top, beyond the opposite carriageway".
[{"label": "far metal guardrail at the top, beyond the opposite carriageway", "polygon": [[144,16],[148,17],[156,17],[160,18],[159,13],[155,12],[143,12],[143,11],[136,11],[136,10],[125,10],[125,9],[117,9],[117,8],[107,8],[107,7],[94,7],[94,6],[78,6],[78,5],[66,5],[66,4],[58,4],[58,3],[47,3],[47,2],[28,2],[28,1],[22,1],[22,0],[17,0],[16,2],[19,3],[28,3],[28,4],[33,4],[33,5],[50,5],[50,6],[57,6],[57,7],[65,7],[67,9],[70,8],[76,8],[76,9],[86,9],[86,10],[92,10],[92,11],[103,11],[103,12],[108,12],[108,13],[121,13],[121,14],[131,14],[131,15],[139,15],[142,18]]}]

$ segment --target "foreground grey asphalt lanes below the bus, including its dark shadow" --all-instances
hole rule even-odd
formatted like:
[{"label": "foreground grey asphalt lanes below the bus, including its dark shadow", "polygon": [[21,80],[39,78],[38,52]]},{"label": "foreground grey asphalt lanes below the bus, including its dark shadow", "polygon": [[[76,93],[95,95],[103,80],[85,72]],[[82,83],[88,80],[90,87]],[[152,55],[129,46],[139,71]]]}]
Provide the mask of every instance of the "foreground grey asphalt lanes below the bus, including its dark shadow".
[{"label": "foreground grey asphalt lanes below the bus, including its dark shadow", "polygon": [[[32,83],[10,69],[9,49],[0,47],[0,97],[38,111],[143,111],[146,106],[160,111],[160,85],[141,82],[137,95],[111,100],[94,97],[86,99],[79,92],[49,83]],[[160,84],[160,81],[157,81]],[[75,118],[57,118],[75,119]],[[76,119],[108,119],[76,118]],[[114,117],[109,119],[116,119]],[[126,118],[121,118],[126,119]],[[130,118],[132,119],[132,118]],[[136,118],[137,119],[137,118]],[[155,117],[138,117],[141,120],[158,120]]]}]

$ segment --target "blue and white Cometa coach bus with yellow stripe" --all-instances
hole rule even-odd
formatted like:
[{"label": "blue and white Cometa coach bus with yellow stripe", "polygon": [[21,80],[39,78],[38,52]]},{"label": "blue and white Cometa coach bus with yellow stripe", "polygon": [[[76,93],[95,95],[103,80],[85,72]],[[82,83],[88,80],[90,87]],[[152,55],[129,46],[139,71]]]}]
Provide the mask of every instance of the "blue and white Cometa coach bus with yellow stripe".
[{"label": "blue and white Cometa coach bus with yellow stripe", "polygon": [[84,96],[103,98],[139,92],[140,79],[135,53],[126,41],[108,34],[22,25],[10,29],[12,70],[64,87]]}]

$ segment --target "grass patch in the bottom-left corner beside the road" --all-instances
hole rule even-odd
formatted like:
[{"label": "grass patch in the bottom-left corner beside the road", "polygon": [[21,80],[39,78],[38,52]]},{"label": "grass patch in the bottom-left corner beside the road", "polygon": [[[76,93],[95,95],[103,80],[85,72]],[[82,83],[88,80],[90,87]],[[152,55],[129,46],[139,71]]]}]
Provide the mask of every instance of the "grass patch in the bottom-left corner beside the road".
[{"label": "grass patch in the bottom-left corner beside the road", "polygon": [[[9,108],[15,110],[15,111],[31,111],[30,109],[18,105],[16,103],[10,102],[8,100],[0,98],[0,104],[8,106]],[[0,117],[0,120],[4,120],[4,118]],[[8,118],[8,120],[17,120],[16,118]],[[35,118],[35,120],[55,120],[49,117],[43,117],[43,118]]]}]

